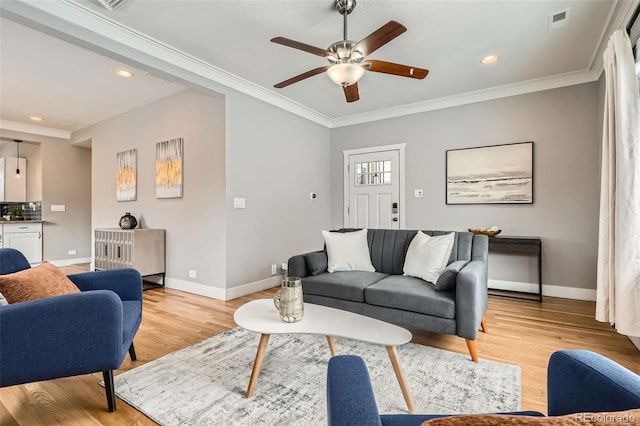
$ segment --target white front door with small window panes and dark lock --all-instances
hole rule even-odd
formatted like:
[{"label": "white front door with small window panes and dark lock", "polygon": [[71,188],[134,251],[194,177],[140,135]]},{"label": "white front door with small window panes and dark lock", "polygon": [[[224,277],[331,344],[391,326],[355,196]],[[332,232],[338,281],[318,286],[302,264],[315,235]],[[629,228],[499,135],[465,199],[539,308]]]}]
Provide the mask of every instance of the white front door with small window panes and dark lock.
[{"label": "white front door with small window panes and dark lock", "polygon": [[347,157],[345,226],[400,229],[400,150],[345,152]]}]

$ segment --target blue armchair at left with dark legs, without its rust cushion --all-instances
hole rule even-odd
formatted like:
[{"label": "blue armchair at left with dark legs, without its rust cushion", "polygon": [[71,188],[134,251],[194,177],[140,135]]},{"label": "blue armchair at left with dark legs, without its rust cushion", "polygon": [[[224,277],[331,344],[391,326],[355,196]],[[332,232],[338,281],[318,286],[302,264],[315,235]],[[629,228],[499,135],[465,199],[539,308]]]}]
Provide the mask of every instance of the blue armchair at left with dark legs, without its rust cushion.
[{"label": "blue armchair at left with dark legs, without its rust cushion", "polygon": [[[29,268],[22,253],[0,249],[0,274]],[[102,371],[115,411],[113,370],[142,321],[142,278],[135,269],[70,275],[80,293],[0,306],[0,387]]]}]

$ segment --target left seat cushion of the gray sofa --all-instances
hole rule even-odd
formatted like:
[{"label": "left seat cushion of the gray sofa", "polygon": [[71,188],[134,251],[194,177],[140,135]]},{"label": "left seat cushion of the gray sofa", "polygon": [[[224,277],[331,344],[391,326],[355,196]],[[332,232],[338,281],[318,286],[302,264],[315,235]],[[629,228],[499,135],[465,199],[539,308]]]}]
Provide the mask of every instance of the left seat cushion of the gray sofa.
[{"label": "left seat cushion of the gray sofa", "polygon": [[368,271],[343,271],[304,277],[304,294],[364,302],[364,289],[387,277],[387,274]]}]

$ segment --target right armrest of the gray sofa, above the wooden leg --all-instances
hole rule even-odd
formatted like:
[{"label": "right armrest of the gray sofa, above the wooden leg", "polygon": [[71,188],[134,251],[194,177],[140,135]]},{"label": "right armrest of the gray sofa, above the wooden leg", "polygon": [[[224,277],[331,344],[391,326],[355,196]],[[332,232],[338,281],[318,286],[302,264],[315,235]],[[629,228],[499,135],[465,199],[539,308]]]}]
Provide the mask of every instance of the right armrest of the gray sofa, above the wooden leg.
[{"label": "right armrest of the gray sofa, above the wooden leg", "polygon": [[487,310],[487,264],[467,263],[456,276],[456,334],[475,340]]}]

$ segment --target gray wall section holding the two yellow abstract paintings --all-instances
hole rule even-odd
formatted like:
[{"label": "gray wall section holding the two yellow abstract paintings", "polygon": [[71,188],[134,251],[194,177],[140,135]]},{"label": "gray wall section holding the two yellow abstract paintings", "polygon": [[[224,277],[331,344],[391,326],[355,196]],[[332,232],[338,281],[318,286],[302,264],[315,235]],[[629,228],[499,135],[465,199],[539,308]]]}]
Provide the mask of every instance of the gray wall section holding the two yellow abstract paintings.
[{"label": "gray wall section holding the two yellow abstract paintings", "polygon": [[[224,98],[187,90],[75,132],[91,139],[92,228],[118,227],[131,212],[144,228],[166,230],[167,276],[225,287]],[[157,199],[155,146],[184,138],[183,197]],[[137,199],[116,201],[116,154],[138,150]],[[197,279],[188,277],[194,270]]]}]

